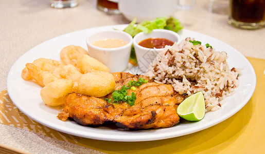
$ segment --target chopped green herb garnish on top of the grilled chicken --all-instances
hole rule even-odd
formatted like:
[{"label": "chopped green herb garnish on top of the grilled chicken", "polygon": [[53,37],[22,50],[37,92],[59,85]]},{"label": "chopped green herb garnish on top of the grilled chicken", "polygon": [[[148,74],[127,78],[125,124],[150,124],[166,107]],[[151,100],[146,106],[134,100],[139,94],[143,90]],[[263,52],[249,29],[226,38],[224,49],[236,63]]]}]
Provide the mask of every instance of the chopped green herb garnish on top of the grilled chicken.
[{"label": "chopped green herb garnish on top of the grilled chicken", "polygon": [[143,79],[143,78],[139,78],[138,81],[129,81],[128,85],[123,85],[121,87],[121,89],[119,90],[114,90],[112,92],[112,99],[105,99],[108,103],[118,103],[119,101],[123,101],[123,102],[127,102],[130,106],[134,105],[134,102],[136,100],[136,94],[134,92],[131,93],[131,95],[128,95],[128,91],[127,89],[132,89],[132,90],[136,90],[135,87],[139,87],[140,85],[147,83],[148,81]]}]

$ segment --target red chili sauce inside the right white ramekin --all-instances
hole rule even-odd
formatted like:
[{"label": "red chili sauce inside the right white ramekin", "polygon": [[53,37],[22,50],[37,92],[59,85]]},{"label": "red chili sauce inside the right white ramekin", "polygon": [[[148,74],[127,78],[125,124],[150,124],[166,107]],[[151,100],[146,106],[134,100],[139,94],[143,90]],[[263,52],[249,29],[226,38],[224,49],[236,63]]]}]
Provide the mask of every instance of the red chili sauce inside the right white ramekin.
[{"label": "red chili sauce inside the right white ramekin", "polygon": [[172,46],[174,42],[167,40],[166,38],[147,38],[141,41],[138,45],[145,48],[165,48],[166,45]]}]

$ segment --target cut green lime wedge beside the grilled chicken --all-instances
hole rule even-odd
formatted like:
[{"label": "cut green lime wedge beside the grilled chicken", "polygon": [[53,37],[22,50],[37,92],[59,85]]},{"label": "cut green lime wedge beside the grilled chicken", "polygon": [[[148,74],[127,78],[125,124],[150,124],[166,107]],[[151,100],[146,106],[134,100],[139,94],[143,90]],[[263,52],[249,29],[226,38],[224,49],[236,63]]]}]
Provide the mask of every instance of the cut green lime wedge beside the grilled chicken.
[{"label": "cut green lime wedge beside the grilled chicken", "polygon": [[188,121],[199,121],[203,119],[205,113],[203,93],[200,91],[190,95],[178,106],[176,112],[181,118]]}]

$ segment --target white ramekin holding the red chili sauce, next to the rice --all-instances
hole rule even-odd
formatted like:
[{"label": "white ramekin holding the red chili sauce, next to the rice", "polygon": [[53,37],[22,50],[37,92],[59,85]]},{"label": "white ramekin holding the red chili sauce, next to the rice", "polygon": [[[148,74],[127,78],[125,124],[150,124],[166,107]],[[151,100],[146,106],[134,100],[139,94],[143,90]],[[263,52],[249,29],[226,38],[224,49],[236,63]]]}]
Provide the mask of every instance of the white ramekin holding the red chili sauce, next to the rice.
[{"label": "white ramekin holding the red chili sauce, next to the rice", "polygon": [[139,69],[143,72],[148,69],[156,55],[160,54],[164,50],[164,48],[156,49],[140,46],[139,43],[143,40],[146,40],[147,38],[166,38],[167,40],[174,43],[180,41],[180,35],[178,33],[166,29],[154,29],[150,34],[144,32],[136,34],[133,37],[133,46],[135,49]]}]

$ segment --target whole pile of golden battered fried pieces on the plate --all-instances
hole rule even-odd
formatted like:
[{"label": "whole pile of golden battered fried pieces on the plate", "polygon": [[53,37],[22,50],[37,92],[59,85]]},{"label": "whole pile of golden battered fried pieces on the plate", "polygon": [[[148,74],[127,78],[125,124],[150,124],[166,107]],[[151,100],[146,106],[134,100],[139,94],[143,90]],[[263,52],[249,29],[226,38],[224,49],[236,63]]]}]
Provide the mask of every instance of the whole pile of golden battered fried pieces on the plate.
[{"label": "whole pile of golden battered fried pieces on the plate", "polygon": [[27,63],[22,70],[24,80],[42,86],[41,98],[50,106],[63,104],[63,97],[79,92],[103,97],[115,88],[114,76],[107,66],[87,54],[79,46],[70,45],[60,52],[61,61],[40,58]]}]

